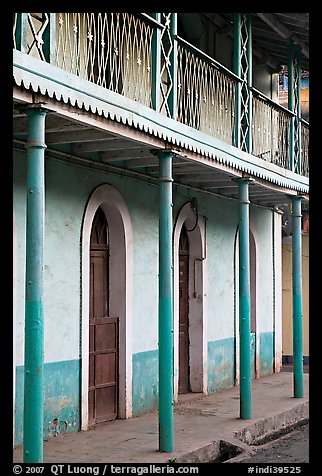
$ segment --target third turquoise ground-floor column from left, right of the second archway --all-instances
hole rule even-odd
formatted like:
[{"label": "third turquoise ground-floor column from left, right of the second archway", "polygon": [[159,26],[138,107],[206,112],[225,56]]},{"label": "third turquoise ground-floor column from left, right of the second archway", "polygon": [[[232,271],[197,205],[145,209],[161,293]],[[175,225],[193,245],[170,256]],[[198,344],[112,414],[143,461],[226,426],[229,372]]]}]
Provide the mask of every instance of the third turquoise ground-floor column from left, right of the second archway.
[{"label": "third turquoise ground-floor column from left, right of the second archway", "polygon": [[239,375],[240,418],[252,418],[250,352],[249,179],[238,179],[239,194]]}]

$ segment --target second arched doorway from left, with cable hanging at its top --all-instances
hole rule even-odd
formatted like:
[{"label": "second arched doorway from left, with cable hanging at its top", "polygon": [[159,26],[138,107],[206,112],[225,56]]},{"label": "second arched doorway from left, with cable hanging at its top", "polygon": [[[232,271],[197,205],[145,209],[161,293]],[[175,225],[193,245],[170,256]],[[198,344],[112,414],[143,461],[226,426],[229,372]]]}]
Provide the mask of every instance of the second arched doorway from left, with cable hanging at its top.
[{"label": "second arched doorway from left, with cable hanging at its top", "polygon": [[183,205],[178,213],[173,250],[174,400],[177,401],[180,393],[207,393],[208,385],[206,221],[192,202]]}]

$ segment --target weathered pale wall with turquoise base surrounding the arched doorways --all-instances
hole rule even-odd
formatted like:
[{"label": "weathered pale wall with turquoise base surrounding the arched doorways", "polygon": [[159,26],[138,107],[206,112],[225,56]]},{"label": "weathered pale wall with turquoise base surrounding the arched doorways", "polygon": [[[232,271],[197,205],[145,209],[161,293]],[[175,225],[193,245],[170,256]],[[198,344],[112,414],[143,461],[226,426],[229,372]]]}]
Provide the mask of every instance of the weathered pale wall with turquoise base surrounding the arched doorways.
[{"label": "weathered pale wall with turquoise base surrounding the arched doorways", "polygon": [[[16,439],[22,433],[22,382],[24,280],[25,280],[25,198],[26,155],[14,152],[14,209],[17,229],[16,283]],[[45,367],[64,366],[80,356],[80,239],[84,209],[92,191],[102,183],[113,185],[127,204],[133,228],[133,415],[151,411],[157,404],[158,375],[158,187],[85,169],[51,159],[46,160],[45,222]],[[212,197],[174,186],[173,218],[184,203],[197,197],[199,214],[206,220],[207,240],[207,341],[208,390],[234,384],[234,238],[238,202]],[[271,211],[250,206],[257,245],[259,332],[272,332],[272,229]],[[144,225],[144,226],[143,226]],[[63,244],[63,246],[62,246]],[[144,336],[144,338],[142,337]],[[55,362],[55,364],[48,364]],[[206,367],[205,367],[206,368]],[[267,368],[269,365],[267,364]],[[148,372],[148,378],[147,378]],[[60,371],[57,371],[57,375]],[[61,408],[64,419],[69,410],[79,413],[79,370],[70,386],[72,404],[59,407],[49,379],[45,380],[46,408]],[[76,385],[76,378],[78,379]],[[64,379],[62,380],[64,381]],[[72,388],[74,390],[72,390]],[[54,395],[54,397],[53,397]],[[53,398],[53,402],[51,402]],[[47,401],[48,400],[48,401]],[[77,403],[76,403],[77,402]],[[47,415],[52,411],[46,410]],[[77,417],[79,419],[79,417]],[[51,420],[52,421],[52,420]],[[77,419],[75,420],[78,421]],[[46,423],[47,424],[47,423]],[[75,428],[78,428],[76,423]],[[74,427],[73,427],[74,428]],[[47,431],[47,430],[46,430]]]}]

